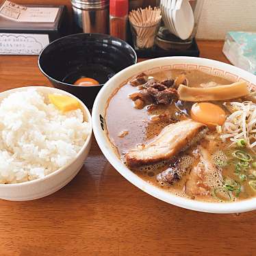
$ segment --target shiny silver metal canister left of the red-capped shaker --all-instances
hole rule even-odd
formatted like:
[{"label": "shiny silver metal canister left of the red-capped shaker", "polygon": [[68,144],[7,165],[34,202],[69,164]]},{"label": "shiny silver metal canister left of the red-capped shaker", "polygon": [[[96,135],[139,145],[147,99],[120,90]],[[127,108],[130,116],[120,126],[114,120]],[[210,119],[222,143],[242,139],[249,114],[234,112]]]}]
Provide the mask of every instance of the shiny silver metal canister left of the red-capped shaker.
[{"label": "shiny silver metal canister left of the red-capped shaker", "polygon": [[73,17],[84,33],[108,34],[109,0],[71,0]]}]

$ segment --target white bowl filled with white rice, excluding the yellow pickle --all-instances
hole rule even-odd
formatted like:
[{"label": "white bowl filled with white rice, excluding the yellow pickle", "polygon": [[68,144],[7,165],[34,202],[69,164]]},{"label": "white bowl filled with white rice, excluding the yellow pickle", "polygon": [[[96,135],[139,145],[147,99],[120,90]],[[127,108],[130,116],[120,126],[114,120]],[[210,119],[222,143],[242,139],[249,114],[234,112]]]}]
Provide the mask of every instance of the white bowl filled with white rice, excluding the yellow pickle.
[{"label": "white bowl filled with white rice, excluding the yellow pickle", "polygon": [[[73,97],[62,112],[49,94]],[[31,86],[0,93],[0,199],[27,201],[60,190],[77,175],[90,151],[86,105],[56,88]]]}]

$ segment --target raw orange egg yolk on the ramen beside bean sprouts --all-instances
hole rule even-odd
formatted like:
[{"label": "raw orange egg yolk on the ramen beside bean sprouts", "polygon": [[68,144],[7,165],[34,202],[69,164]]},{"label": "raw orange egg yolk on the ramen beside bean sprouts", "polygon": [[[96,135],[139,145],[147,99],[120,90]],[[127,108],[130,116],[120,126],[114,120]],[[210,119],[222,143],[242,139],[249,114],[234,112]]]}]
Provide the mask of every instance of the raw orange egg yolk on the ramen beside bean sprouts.
[{"label": "raw orange egg yolk on the ramen beside bean sprouts", "polygon": [[191,107],[190,116],[212,129],[217,125],[223,125],[226,120],[226,113],[221,107],[207,102],[194,103]]}]

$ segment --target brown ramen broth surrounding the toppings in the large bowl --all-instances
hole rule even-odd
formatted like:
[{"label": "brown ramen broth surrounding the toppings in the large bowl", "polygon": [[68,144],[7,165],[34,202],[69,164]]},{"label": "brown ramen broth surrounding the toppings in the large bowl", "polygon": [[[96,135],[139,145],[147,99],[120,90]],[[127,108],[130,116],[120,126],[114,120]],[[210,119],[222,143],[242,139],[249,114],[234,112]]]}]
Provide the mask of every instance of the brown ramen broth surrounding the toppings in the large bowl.
[{"label": "brown ramen broth surrounding the toppings in the large bowl", "polygon": [[[183,71],[179,69],[154,73],[153,75],[150,75],[149,78],[157,81],[164,81],[170,78],[175,79],[175,77],[180,74],[185,74],[189,85],[192,87],[214,86],[215,83],[218,85],[232,83],[232,81],[222,77],[208,75],[201,71]],[[190,109],[192,104],[194,104],[173,99],[170,104],[167,105],[146,105],[142,109],[136,109],[133,101],[129,98],[129,95],[134,92],[139,92],[138,87],[131,86],[129,83],[121,85],[110,98],[105,114],[110,142],[116,148],[118,156],[123,162],[125,162],[124,156],[127,152],[143,147],[145,144],[149,144],[167,125],[191,118]],[[242,101],[242,99],[240,99],[240,101]],[[223,101],[216,101],[213,103],[220,106],[222,110],[225,110],[227,116],[230,114],[229,110],[223,105]],[[155,122],[155,117],[159,115],[164,116],[164,118]],[[165,116],[168,116],[168,118],[165,118]],[[168,168],[170,164],[169,161],[136,166],[135,168],[130,169],[145,181],[189,199],[211,202],[248,199],[255,196],[255,190],[248,184],[248,177],[250,175],[253,180],[253,167],[249,165],[249,168],[246,169],[248,172],[246,173],[247,178],[244,178],[246,181],[241,181],[240,177],[243,177],[241,175],[243,175],[244,172],[236,172],[235,168],[238,166],[239,159],[233,157],[233,151],[236,148],[235,146],[232,147],[230,145],[230,140],[226,140],[225,142],[220,140],[220,135],[216,129],[209,129],[205,138],[184,151],[185,155],[194,159],[192,166],[196,166],[196,164],[199,163],[200,158],[194,157],[199,146],[202,146],[203,149],[207,150],[213,162],[214,159],[216,159],[216,161],[218,160],[216,166],[218,163],[222,164],[222,166],[216,168],[216,173],[214,172],[214,174],[211,174],[211,177],[208,177],[211,180],[211,183],[214,183],[215,185],[212,190],[207,193],[195,192],[193,194],[188,192],[189,190],[186,188],[186,185],[189,183],[188,181],[190,180],[190,175],[192,175],[193,167],[185,172],[179,181],[173,183],[165,183],[157,181],[156,179],[160,172],[163,172],[163,170]],[[255,159],[252,151],[248,149],[243,149],[243,151],[249,153],[253,156],[253,159]],[[225,164],[223,164],[223,162],[225,162]],[[207,176],[207,173],[205,175]],[[218,175],[221,176],[221,182]],[[208,178],[206,177],[205,179]],[[224,194],[222,193],[224,184],[230,189],[227,190],[227,194],[225,194],[226,190]],[[218,195],[219,192],[220,196]]]}]

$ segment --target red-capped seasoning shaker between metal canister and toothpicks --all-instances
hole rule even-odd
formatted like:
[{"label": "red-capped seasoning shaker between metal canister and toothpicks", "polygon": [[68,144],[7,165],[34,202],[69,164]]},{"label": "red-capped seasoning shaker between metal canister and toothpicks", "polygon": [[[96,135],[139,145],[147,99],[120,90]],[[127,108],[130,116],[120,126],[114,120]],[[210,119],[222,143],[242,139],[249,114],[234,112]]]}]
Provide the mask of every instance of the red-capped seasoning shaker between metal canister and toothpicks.
[{"label": "red-capped seasoning shaker between metal canister and toothpicks", "polygon": [[110,0],[110,35],[127,40],[128,0]]}]

